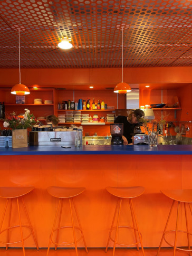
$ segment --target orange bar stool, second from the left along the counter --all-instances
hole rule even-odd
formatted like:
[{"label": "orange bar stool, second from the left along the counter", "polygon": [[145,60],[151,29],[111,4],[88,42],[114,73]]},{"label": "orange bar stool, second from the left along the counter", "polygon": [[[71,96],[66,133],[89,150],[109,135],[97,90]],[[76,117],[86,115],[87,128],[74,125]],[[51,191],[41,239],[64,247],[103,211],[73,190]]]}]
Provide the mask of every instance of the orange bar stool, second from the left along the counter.
[{"label": "orange bar stool, second from the left along the counter", "polygon": [[[78,212],[76,211],[76,206],[75,206],[74,199],[73,199],[74,196],[80,195],[84,191],[85,191],[84,187],[48,187],[47,188],[47,192],[50,195],[59,198],[59,204],[58,204],[57,209],[56,209],[55,220],[54,220],[54,223],[53,223],[52,232],[51,232],[51,235],[50,235],[50,241],[49,241],[49,245],[48,245],[46,255],[48,255],[48,253],[49,253],[51,243],[54,243],[55,244],[55,250],[57,249],[57,245],[67,246],[67,245],[74,244],[75,245],[76,256],[78,256],[77,243],[81,240],[81,238],[83,239],[85,250],[88,253],[88,249],[87,249],[87,245],[85,243],[85,239],[84,239],[84,235],[83,235],[79,215],[78,215]],[[61,226],[63,199],[67,199],[67,198],[69,199],[72,226]],[[79,223],[79,227],[74,226],[74,219],[73,219],[73,213],[72,213],[72,204],[74,206],[74,210],[75,210],[76,218],[77,218],[78,223]],[[59,213],[59,209],[60,209],[60,213]],[[58,223],[58,227],[55,229],[55,224],[56,224],[58,214],[59,214],[59,223]],[[73,229],[74,242],[71,242],[71,243],[63,242],[63,243],[59,244],[58,243],[59,231],[60,231],[60,229],[64,229],[65,227],[70,227],[70,228]],[[78,240],[76,240],[75,229],[78,229],[78,230],[81,231],[81,237]],[[55,231],[56,231],[56,241],[53,241],[52,238],[53,238],[53,233]]]}]

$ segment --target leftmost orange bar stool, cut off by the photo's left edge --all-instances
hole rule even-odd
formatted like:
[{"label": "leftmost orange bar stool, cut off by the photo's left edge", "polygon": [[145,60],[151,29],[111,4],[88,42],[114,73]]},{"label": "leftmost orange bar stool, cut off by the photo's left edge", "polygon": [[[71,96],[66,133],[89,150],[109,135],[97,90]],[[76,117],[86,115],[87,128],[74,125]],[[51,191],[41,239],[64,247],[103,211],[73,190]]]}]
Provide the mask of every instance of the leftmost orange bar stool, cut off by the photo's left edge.
[{"label": "leftmost orange bar stool, cut off by the photo's left edge", "polygon": [[[31,234],[33,235],[33,239],[35,241],[36,248],[37,248],[37,250],[39,250],[39,247],[37,245],[37,240],[35,238],[35,234],[34,234],[34,231],[33,231],[32,225],[31,225],[31,221],[30,221],[30,218],[28,216],[26,206],[25,206],[25,203],[24,203],[24,200],[23,200],[23,196],[30,193],[33,189],[34,189],[34,187],[0,187],[0,197],[7,199],[6,204],[5,204],[5,208],[4,208],[4,212],[3,212],[2,221],[1,221],[1,224],[0,224],[0,234],[7,231],[7,238],[6,238],[6,242],[0,241],[0,243],[6,244],[6,250],[7,250],[9,244],[15,244],[15,243],[22,242],[24,256],[25,256],[24,240],[29,238]],[[18,219],[19,219],[20,224],[15,225],[15,226],[11,226],[12,206],[13,206],[13,200],[14,199],[15,199],[16,204],[17,204]],[[21,202],[20,201],[22,201],[22,203],[23,203],[23,207],[24,207],[26,217],[27,217],[27,220],[28,220],[28,226],[27,225],[22,225],[22,222],[21,222],[21,211],[20,211]],[[9,213],[8,213],[8,227],[7,227],[7,229],[2,230],[2,226],[3,226],[3,222],[4,222],[4,218],[5,218],[8,203],[10,205]],[[15,227],[20,227],[21,240],[16,241],[16,242],[9,242],[9,230],[14,229]],[[28,234],[26,238],[23,238],[23,229],[22,229],[22,227],[27,227],[31,231],[30,234]]]}]

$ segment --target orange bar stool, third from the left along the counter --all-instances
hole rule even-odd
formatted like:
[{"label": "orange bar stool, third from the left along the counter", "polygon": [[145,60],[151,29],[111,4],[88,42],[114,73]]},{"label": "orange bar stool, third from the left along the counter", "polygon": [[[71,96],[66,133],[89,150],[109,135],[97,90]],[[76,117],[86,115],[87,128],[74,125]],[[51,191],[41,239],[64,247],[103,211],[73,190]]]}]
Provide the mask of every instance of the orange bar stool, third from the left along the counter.
[{"label": "orange bar stool, third from the left along the counter", "polygon": [[[107,242],[105,252],[107,252],[107,250],[108,250],[109,241],[112,240],[114,242],[114,244],[113,244],[113,256],[114,256],[114,251],[116,250],[116,244],[123,245],[123,246],[137,245],[137,250],[139,251],[139,246],[138,246],[139,243],[141,244],[141,249],[142,249],[142,253],[143,253],[143,256],[144,256],[145,254],[144,254],[144,250],[143,250],[143,246],[142,246],[142,236],[141,236],[141,233],[139,232],[139,227],[138,227],[137,220],[136,220],[135,210],[133,208],[132,198],[135,198],[135,197],[138,197],[138,196],[142,195],[143,192],[145,191],[145,188],[144,187],[106,187],[106,189],[110,194],[118,197],[118,202],[117,202],[116,210],[114,212],[111,229],[109,231],[109,238],[108,238],[108,242]],[[124,225],[120,226],[119,225],[122,200],[126,200],[126,199],[129,200],[129,206],[130,206],[133,226],[124,226]],[[118,216],[117,216],[117,212],[118,212]],[[117,225],[113,226],[114,221],[116,220],[116,216],[117,216]],[[136,243],[134,243],[134,244],[121,244],[121,243],[117,242],[118,229],[121,228],[121,227],[123,227],[123,228],[126,227],[128,229],[133,229],[134,230]],[[111,238],[111,232],[114,229],[116,230],[116,233],[115,233],[115,237],[114,237],[114,240],[113,240]],[[137,237],[137,234],[139,236],[139,239]]]}]

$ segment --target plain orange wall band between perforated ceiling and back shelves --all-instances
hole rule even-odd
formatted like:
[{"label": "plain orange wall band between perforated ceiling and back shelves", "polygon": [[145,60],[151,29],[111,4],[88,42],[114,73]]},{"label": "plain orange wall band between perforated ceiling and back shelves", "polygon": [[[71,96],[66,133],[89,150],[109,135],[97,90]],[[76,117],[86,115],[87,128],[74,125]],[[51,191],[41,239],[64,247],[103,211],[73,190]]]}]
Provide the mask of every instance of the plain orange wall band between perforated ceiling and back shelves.
[{"label": "plain orange wall band between perforated ceiling and back shelves", "polygon": [[[124,68],[123,81],[128,83],[191,83],[192,67]],[[0,69],[0,84],[18,81],[18,69]],[[63,84],[113,84],[121,79],[121,69],[22,69],[21,82],[45,86]]]}]

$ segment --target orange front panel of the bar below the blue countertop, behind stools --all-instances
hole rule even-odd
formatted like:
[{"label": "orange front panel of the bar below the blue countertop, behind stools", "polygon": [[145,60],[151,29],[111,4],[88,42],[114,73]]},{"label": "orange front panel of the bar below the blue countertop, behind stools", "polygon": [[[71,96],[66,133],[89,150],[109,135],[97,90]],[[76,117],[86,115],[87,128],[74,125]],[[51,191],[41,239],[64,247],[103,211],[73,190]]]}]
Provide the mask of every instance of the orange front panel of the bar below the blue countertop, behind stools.
[{"label": "orange front panel of the bar below the blue countertop, behind stools", "polygon": [[[34,191],[25,196],[25,202],[40,248],[47,247],[49,242],[58,202],[46,192],[48,186],[86,188],[84,193],[75,198],[75,202],[88,247],[101,248],[104,248],[107,243],[117,202],[105,187],[144,186],[145,193],[135,198],[133,204],[142,233],[143,246],[157,247],[172,202],[160,193],[160,189],[189,189],[192,182],[191,156],[18,155],[0,156],[0,161],[0,176],[3,177],[0,186],[35,186]],[[5,200],[0,198],[0,216],[3,213],[4,204]],[[64,206],[66,216],[63,221],[65,224],[70,224],[69,203]],[[174,210],[176,211],[176,208]],[[182,207],[181,210],[183,212]],[[129,208],[127,204],[123,204],[120,224],[130,225],[131,216],[126,211],[129,211]],[[17,221],[16,214],[12,215],[12,218]],[[189,221],[190,226],[192,224],[190,218]],[[25,217],[23,223],[26,224]],[[175,220],[171,220],[169,229],[175,229],[175,224]],[[179,222],[179,229],[182,227],[185,229],[184,220]],[[15,236],[13,233],[13,240]],[[129,232],[127,236],[130,240],[134,237]],[[1,241],[4,240],[3,238],[6,239],[5,233],[1,235]],[[71,238],[70,235],[68,238]],[[178,236],[178,245],[187,245],[187,241],[183,239],[183,236]],[[171,236],[169,241],[173,244],[172,240]],[[25,245],[35,246],[33,239],[25,240]],[[83,246],[82,241],[78,245]],[[13,246],[21,246],[21,244]],[[163,243],[162,246],[166,244]]]}]

